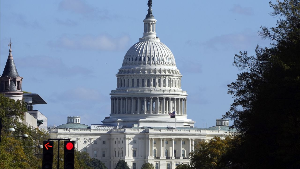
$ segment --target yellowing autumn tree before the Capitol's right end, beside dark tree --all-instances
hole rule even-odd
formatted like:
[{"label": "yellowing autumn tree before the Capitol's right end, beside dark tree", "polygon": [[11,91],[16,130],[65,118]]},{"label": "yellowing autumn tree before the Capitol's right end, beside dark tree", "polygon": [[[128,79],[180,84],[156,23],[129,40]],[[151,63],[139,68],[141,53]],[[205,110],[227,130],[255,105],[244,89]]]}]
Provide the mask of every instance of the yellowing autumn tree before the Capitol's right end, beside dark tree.
[{"label": "yellowing autumn tree before the Capitol's right end, beside dark tree", "polygon": [[227,153],[231,140],[229,137],[224,140],[221,140],[220,137],[214,137],[209,142],[197,143],[194,151],[190,153],[190,168],[215,169],[225,166],[226,162],[223,162],[222,157]]}]

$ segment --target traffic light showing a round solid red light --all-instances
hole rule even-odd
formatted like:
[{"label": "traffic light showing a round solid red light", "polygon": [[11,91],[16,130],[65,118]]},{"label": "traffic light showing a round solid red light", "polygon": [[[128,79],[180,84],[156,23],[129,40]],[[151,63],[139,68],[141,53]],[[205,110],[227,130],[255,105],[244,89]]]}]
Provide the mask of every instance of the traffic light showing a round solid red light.
[{"label": "traffic light showing a round solid red light", "polygon": [[64,141],[64,169],[74,169],[74,141]]}]

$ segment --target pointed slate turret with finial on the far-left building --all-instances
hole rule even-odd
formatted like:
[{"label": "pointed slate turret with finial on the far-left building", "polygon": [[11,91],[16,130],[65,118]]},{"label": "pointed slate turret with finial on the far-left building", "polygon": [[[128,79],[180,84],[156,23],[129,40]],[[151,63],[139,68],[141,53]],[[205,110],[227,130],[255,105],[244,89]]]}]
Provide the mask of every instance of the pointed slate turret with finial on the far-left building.
[{"label": "pointed slate turret with finial on the far-left building", "polygon": [[22,77],[19,76],[16,69],[13,55],[11,54],[11,42],[9,46],[9,55],[4,67],[2,76],[0,77],[0,93],[5,94],[6,97],[15,100],[22,100]]}]

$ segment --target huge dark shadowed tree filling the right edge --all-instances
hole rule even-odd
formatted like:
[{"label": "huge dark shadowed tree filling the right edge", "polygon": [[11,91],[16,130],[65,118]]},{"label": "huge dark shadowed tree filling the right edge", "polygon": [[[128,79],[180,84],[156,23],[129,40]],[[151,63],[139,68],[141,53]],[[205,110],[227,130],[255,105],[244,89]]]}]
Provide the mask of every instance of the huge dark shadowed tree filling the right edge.
[{"label": "huge dark shadowed tree filling the right edge", "polygon": [[270,6],[277,26],[259,33],[271,47],[236,54],[233,65],[243,72],[228,85],[234,102],[223,117],[234,120],[240,142],[226,159],[240,168],[300,166],[300,1]]}]

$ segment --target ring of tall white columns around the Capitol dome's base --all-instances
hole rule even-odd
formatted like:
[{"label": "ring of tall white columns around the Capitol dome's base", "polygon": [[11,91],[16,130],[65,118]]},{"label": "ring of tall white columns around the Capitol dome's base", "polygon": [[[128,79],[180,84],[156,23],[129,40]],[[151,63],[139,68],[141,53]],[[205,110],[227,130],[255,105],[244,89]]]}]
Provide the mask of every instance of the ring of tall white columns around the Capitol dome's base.
[{"label": "ring of tall white columns around the Capitol dome's base", "polygon": [[[147,105],[148,100],[149,105]],[[150,114],[167,114],[176,111],[176,114],[186,115],[187,109],[186,98],[177,99],[169,97],[166,99],[166,97],[150,97],[147,99],[147,97],[112,97],[110,101],[110,114],[146,114],[147,112]],[[159,101],[161,101],[161,104],[159,104]],[[154,102],[155,104],[153,104]],[[143,110],[141,110],[142,106],[144,107]],[[148,108],[148,106],[150,107]],[[153,107],[155,107],[154,110]]]}]

